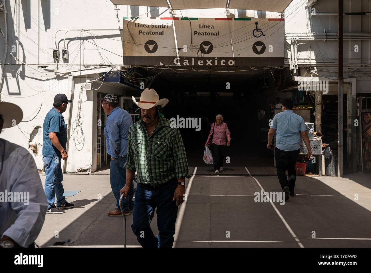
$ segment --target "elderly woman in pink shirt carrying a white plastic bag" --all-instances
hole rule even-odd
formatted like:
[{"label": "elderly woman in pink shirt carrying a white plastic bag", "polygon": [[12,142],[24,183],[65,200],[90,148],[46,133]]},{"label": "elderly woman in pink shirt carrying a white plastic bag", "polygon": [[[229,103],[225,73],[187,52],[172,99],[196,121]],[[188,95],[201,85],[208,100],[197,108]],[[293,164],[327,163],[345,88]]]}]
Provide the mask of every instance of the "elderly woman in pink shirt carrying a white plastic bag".
[{"label": "elderly woman in pink shirt carrying a white plastic bag", "polygon": [[[217,115],[216,123],[211,124],[210,134],[207,137],[205,146],[209,143],[210,136],[213,135],[213,141],[211,142],[211,152],[213,153],[214,159],[214,173],[219,173],[223,168],[224,154],[226,146],[230,146],[231,135],[226,123],[223,122],[223,116]],[[226,141],[227,140],[227,141]]]}]

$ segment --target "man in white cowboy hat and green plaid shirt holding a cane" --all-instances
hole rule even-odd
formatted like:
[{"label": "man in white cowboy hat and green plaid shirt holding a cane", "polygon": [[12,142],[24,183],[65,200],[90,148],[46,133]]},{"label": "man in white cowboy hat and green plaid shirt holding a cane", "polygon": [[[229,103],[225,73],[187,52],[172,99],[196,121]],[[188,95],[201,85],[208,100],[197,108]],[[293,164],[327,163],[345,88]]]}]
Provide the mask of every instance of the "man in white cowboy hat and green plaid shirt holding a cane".
[{"label": "man in white cowboy hat and green plaid shirt holding a cane", "polygon": [[[133,224],[131,228],[142,247],[172,247],[178,207],[184,201],[185,177],[190,178],[187,156],[179,130],[159,112],[168,99],[158,100],[153,89],[146,88],[139,103],[141,120],[129,129],[125,168],[130,181],[137,171]],[[125,198],[130,191],[127,183],[121,189]],[[157,208],[157,237],[150,223]]]}]

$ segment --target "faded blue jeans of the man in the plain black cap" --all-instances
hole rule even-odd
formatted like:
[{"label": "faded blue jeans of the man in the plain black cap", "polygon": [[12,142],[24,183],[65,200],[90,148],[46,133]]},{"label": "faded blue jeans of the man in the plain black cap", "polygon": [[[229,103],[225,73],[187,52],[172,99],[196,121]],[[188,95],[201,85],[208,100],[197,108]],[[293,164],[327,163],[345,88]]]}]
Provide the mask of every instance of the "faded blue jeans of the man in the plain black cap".
[{"label": "faded blue jeans of the man in the plain black cap", "polygon": [[57,205],[62,205],[66,198],[63,196],[64,189],[62,185],[63,173],[60,160],[62,157],[46,157],[43,156],[43,162],[45,164],[45,195],[49,206],[47,209],[52,207],[54,204],[55,196],[57,196]]}]

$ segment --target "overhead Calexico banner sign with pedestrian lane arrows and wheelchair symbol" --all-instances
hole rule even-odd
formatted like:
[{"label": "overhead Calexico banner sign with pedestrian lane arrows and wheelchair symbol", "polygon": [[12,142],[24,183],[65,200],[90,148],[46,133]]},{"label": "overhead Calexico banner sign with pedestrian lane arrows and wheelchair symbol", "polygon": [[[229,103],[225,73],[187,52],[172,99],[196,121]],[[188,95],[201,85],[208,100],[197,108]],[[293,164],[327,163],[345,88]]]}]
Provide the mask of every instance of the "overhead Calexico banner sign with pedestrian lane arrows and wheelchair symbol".
[{"label": "overhead Calexico banner sign with pedestrian lane arrows and wheelchair symbol", "polygon": [[127,19],[124,64],[283,66],[284,27],[284,19]]}]

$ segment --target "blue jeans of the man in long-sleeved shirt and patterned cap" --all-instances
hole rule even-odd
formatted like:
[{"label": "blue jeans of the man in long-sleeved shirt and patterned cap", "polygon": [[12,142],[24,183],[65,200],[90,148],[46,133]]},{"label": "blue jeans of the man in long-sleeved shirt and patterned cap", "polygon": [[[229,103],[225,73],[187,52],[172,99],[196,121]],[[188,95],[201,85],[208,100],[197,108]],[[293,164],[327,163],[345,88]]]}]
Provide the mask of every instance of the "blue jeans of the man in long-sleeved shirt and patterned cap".
[{"label": "blue jeans of the man in long-sleeved shirt and patterned cap", "polygon": [[[109,181],[111,182],[111,189],[117,200],[116,206],[117,210],[121,211],[119,200],[120,200],[120,189],[124,188],[126,184],[126,168],[124,165],[126,163],[126,155],[118,157],[115,160],[111,160],[109,164]],[[130,192],[127,199],[122,198],[122,207],[125,212],[131,211],[134,207],[133,202],[134,195],[134,182],[131,181]]]}]

